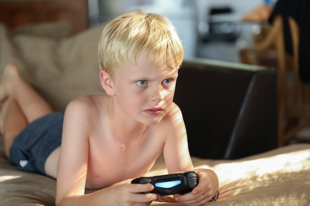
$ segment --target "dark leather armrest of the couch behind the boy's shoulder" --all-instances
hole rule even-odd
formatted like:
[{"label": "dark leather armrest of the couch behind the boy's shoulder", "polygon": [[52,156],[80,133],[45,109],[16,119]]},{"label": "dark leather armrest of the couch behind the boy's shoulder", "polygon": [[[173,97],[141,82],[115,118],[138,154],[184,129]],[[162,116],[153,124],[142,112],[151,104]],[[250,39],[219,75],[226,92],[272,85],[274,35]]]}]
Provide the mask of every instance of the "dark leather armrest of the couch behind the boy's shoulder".
[{"label": "dark leather armrest of the couch behind the boy's shoulder", "polygon": [[238,159],[277,147],[277,73],[253,65],[185,61],[174,102],[192,156]]}]

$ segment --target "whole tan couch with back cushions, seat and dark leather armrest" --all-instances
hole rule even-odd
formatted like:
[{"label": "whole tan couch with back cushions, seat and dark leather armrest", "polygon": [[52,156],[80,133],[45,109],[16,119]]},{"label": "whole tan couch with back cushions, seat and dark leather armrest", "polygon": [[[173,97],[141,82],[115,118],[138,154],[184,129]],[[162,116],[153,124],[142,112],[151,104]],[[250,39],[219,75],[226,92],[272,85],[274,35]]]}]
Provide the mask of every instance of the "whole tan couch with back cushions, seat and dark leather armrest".
[{"label": "whole tan couch with back cushions, seat and dark leather armrest", "polygon": [[[0,24],[0,69],[15,62],[54,110],[103,92],[97,43],[104,24],[69,36],[64,22],[8,29]],[[276,73],[207,59],[185,61],[175,102],[195,167],[220,182],[212,206],[309,206],[310,145],[276,147]],[[150,175],[166,173],[162,156]],[[10,165],[0,137],[0,206],[54,206],[56,181]],[[175,205],[153,202],[152,205]]]}]

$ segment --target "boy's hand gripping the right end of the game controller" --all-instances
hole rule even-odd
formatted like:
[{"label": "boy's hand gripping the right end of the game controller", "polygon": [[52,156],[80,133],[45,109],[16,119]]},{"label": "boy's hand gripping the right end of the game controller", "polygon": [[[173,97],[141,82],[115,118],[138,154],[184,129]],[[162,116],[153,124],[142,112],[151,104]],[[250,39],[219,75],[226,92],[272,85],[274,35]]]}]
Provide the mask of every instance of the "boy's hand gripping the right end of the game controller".
[{"label": "boy's hand gripping the right end of the game controller", "polygon": [[198,185],[192,192],[184,195],[176,195],[175,200],[186,206],[202,206],[213,198],[218,191],[218,178],[210,169],[196,169],[199,177]]}]

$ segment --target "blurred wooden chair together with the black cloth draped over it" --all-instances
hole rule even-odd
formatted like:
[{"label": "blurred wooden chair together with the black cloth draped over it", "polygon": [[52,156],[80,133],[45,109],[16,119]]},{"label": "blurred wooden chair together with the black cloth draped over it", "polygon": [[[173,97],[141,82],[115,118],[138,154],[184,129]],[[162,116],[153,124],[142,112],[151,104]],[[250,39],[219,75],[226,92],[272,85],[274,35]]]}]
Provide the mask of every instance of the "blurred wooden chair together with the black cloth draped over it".
[{"label": "blurred wooden chair together with the black cloth draped over it", "polygon": [[308,0],[278,0],[270,25],[254,38],[254,46],[240,50],[243,63],[278,72],[278,146],[310,127],[309,11]]}]

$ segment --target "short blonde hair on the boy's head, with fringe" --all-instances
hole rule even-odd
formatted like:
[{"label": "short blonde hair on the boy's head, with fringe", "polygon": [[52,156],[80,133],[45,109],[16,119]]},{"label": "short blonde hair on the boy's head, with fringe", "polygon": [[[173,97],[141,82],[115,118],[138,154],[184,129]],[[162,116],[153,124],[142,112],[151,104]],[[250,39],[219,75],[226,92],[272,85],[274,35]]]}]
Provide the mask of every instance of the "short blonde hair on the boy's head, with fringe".
[{"label": "short blonde hair on the boy's head, with fringe", "polygon": [[184,49],[175,27],[165,17],[141,11],[127,12],[109,22],[99,41],[101,69],[113,77],[122,64],[137,64],[139,54],[150,54],[152,66],[178,68]]}]

